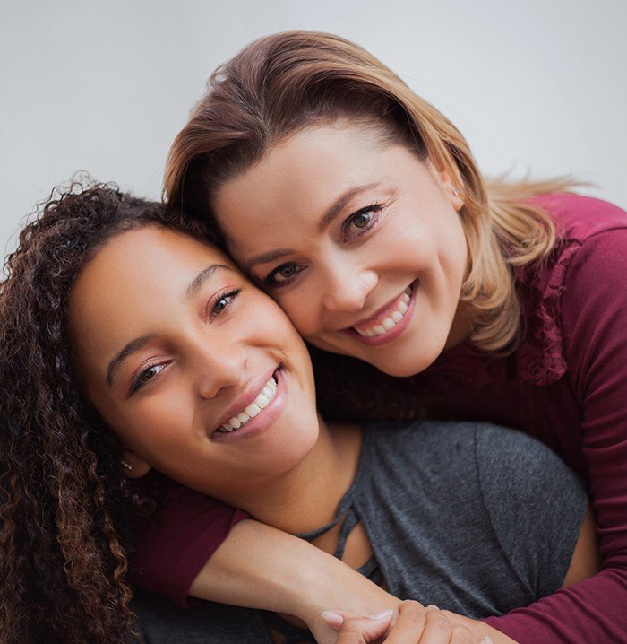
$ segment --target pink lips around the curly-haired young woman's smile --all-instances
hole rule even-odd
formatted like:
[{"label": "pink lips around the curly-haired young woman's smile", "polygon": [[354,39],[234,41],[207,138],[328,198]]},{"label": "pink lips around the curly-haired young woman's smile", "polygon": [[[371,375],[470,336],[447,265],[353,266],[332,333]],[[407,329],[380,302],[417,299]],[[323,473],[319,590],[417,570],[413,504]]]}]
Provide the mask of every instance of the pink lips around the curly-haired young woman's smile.
[{"label": "pink lips around the curly-haired young woman's smile", "polygon": [[[262,409],[262,411],[254,418],[246,422],[243,427],[228,432],[219,431],[219,427],[221,427],[222,424],[228,422],[229,418],[232,418],[237,413],[241,412],[245,407],[250,405],[257,396],[259,396],[263,386],[268,382],[272,375],[277,380],[277,391],[275,392],[270,404]],[[217,428],[211,432],[210,439],[220,443],[232,442],[234,440],[258,436],[262,432],[270,429],[285,408],[287,403],[287,393],[288,390],[283,370],[278,367],[274,371],[266,372],[266,374],[260,378],[255,379],[251,387],[248,387],[242,395],[236,397],[236,400],[228,407],[227,412],[223,415]]]}]

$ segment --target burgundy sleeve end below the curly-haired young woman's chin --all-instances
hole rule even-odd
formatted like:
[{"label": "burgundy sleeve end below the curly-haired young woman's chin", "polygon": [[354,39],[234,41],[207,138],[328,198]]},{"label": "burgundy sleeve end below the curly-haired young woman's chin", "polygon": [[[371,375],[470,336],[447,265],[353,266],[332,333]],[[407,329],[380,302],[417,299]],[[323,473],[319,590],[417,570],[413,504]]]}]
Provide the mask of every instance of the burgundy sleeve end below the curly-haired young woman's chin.
[{"label": "burgundy sleeve end below the curly-haired young woman's chin", "polygon": [[173,484],[156,527],[146,522],[129,558],[130,581],[184,606],[187,593],[211,555],[245,512]]}]

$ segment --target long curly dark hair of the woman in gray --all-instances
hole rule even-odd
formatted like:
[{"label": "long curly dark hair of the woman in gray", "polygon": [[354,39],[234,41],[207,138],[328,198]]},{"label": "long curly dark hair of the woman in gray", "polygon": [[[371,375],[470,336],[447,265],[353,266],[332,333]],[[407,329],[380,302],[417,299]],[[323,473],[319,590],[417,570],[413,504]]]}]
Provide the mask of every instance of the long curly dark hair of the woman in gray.
[{"label": "long curly dark hair of the woman in gray", "polygon": [[145,225],[204,237],[157,203],[85,178],[56,188],[21,231],[0,284],[0,631],[4,644],[127,642],[125,583],[142,488],[82,397],[67,303],[116,234]]}]

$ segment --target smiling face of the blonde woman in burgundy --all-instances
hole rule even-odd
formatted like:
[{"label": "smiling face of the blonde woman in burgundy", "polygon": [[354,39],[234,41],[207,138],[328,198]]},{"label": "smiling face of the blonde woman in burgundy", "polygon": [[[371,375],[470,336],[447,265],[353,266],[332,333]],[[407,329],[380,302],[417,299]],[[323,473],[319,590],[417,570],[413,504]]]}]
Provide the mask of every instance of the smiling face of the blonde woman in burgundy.
[{"label": "smiling face of the blonde woman in burgundy", "polygon": [[462,205],[445,173],[345,120],[288,137],[212,204],[229,252],[306,340],[393,376],[469,333]]}]

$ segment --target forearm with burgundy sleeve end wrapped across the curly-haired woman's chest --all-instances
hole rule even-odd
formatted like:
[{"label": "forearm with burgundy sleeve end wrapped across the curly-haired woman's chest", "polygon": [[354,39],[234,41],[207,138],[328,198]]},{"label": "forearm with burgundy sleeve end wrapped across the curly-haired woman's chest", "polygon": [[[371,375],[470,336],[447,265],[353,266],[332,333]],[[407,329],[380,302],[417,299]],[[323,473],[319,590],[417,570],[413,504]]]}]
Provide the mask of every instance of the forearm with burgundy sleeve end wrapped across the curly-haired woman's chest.
[{"label": "forearm with burgundy sleeve end wrapped across the curly-haired woman's chest", "polygon": [[294,614],[319,641],[335,633],[320,614],[356,614],[398,600],[312,544],[182,486],[168,493],[159,527],[145,527],[130,557],[133,585],[185,605],[188,595]]}]

